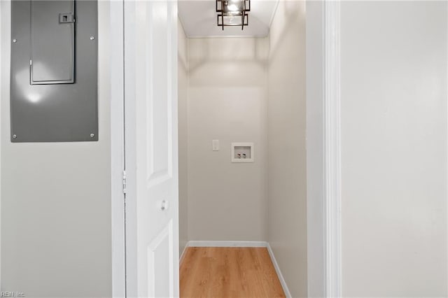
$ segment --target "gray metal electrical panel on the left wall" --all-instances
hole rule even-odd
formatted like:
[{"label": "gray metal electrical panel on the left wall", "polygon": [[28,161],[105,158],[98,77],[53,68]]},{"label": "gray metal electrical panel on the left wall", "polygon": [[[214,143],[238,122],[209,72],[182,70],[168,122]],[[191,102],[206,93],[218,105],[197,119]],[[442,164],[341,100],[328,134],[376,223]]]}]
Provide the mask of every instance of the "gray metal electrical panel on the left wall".
[{"label": "gray metal electrical panel on the left wall", "polygon": [[12,1],[11,141],[98,140],[97,32],[97,1]]}]

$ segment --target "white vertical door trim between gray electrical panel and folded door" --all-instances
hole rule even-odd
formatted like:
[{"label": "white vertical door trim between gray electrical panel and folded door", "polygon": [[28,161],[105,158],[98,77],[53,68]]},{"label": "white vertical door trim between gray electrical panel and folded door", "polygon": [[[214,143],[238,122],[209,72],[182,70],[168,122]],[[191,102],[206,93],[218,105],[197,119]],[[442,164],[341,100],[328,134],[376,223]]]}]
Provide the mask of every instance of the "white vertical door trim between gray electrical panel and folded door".
[{"label": "white vertical door trim between gray electrical panel and folded door", "polygon": [[[99,0],[101,1],[101,0]],[[110,1],[112,297],[125,297],[124,1]]]}]

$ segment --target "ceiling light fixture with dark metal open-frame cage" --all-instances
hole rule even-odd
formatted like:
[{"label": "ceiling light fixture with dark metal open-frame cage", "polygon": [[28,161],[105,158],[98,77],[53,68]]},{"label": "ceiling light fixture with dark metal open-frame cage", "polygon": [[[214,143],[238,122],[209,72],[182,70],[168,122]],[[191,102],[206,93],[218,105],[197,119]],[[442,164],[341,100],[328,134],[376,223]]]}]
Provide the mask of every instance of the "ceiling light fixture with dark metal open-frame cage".
[{"label": "ceiling light fixture with dark metal open-frame cage", "polygon": [[218,27],[244,26],[249,24],[248,11],[251,11],[251,0],[216,0]]}]

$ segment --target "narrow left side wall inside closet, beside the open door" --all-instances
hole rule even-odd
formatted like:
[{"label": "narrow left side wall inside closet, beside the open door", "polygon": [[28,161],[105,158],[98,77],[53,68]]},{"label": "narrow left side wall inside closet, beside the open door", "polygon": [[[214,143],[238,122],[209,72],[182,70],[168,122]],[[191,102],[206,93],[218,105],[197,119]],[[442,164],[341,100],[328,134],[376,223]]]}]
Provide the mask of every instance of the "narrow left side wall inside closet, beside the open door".
[{"label": "narrow left side wall inside closet, beside the open door", "polygon": [[188,39],[178,20],[179,250],[188,242]]}]

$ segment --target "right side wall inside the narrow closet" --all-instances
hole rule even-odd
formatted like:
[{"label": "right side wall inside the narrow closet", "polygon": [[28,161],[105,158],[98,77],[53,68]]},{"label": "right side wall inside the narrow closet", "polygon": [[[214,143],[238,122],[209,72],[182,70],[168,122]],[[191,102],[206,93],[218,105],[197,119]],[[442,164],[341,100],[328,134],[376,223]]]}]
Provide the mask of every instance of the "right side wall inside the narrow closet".
[{"label": "right side wall inside the narrow closet", "polygon": [[268,241],[293,297],[307,297],[305,3],[280,1],[269,32]]}]

